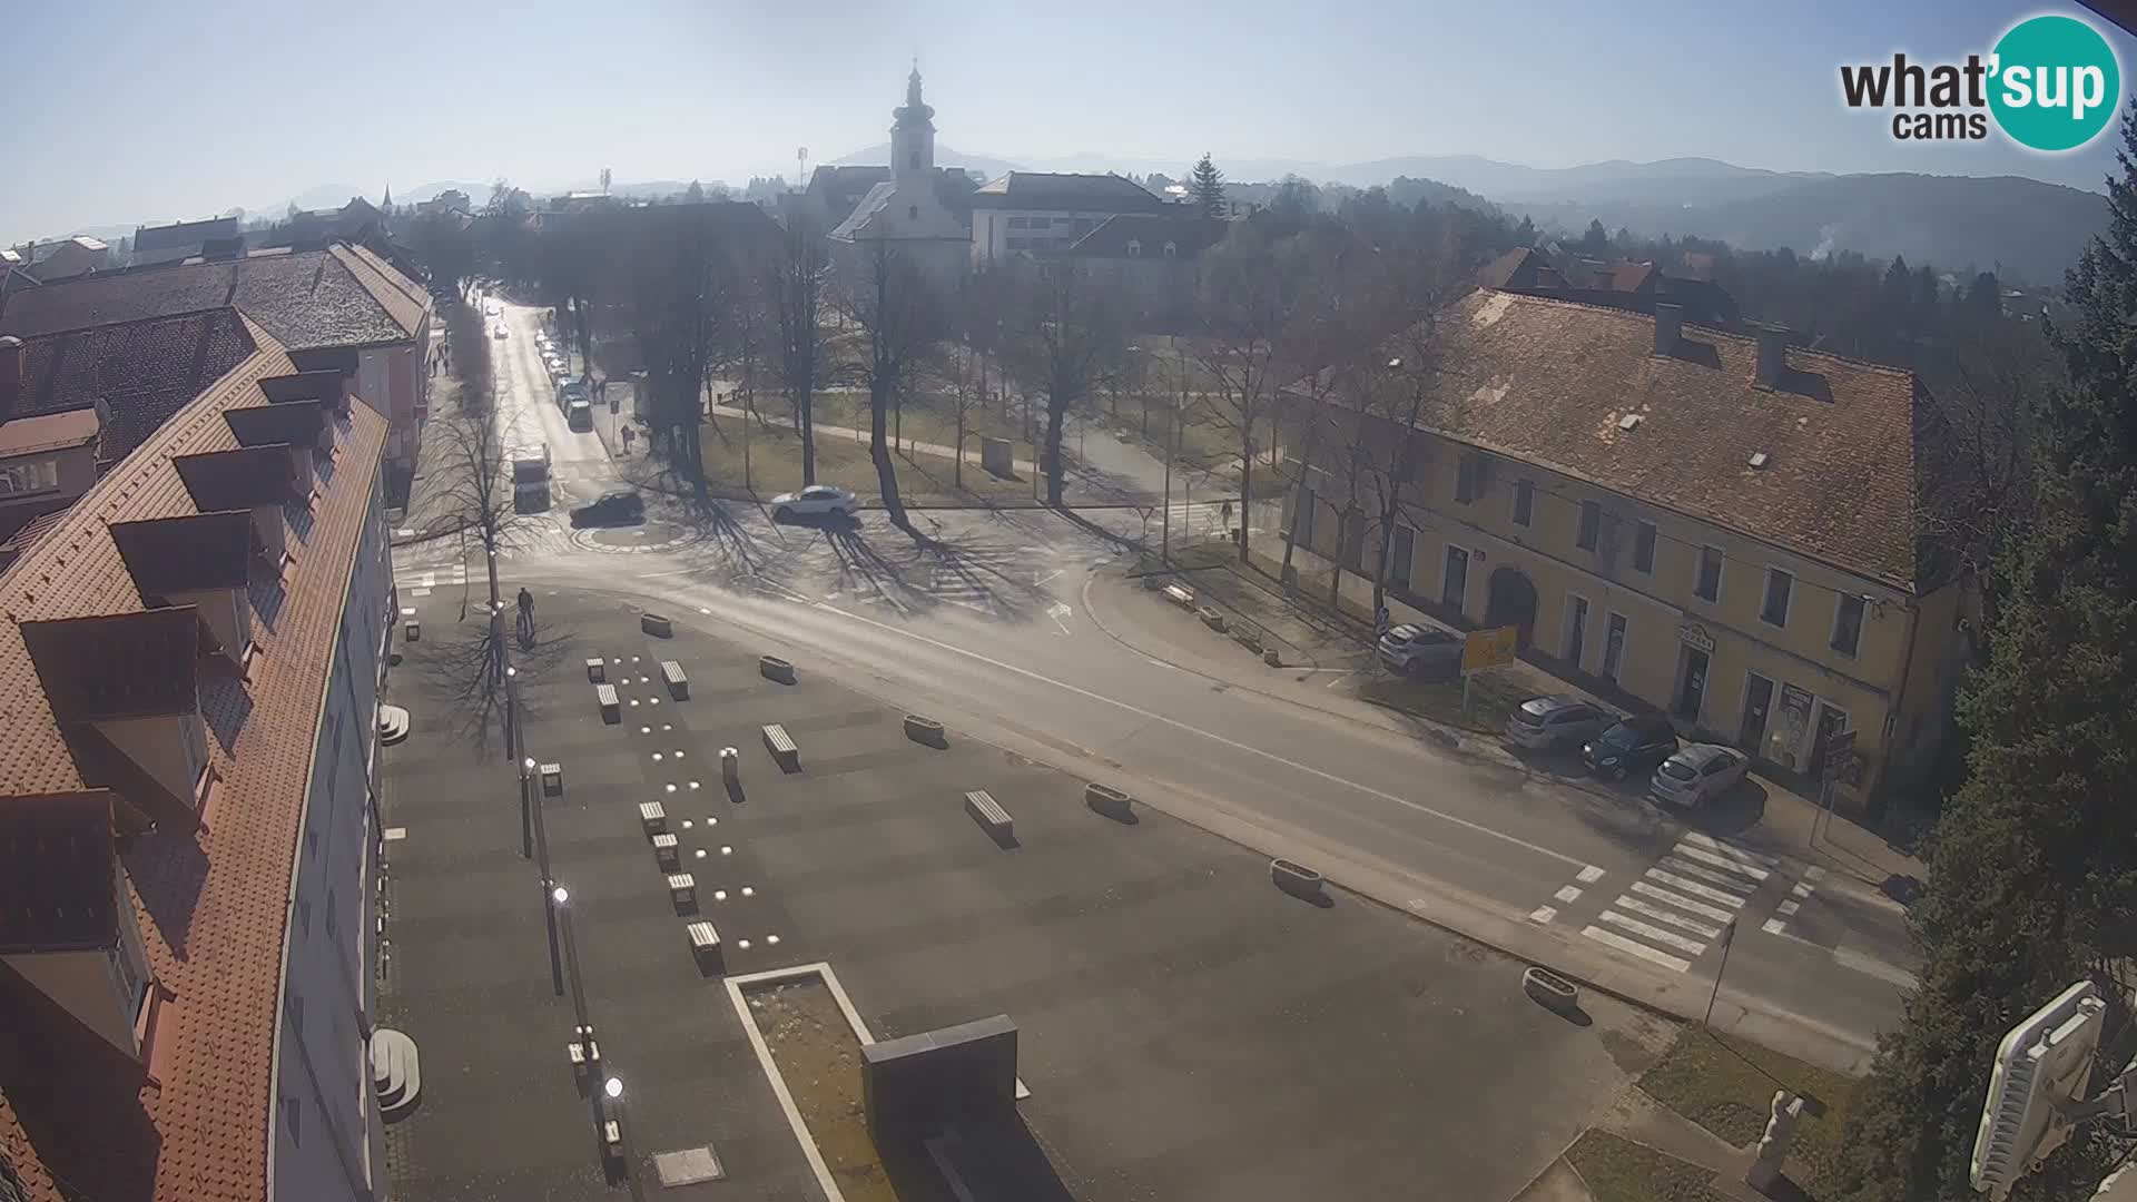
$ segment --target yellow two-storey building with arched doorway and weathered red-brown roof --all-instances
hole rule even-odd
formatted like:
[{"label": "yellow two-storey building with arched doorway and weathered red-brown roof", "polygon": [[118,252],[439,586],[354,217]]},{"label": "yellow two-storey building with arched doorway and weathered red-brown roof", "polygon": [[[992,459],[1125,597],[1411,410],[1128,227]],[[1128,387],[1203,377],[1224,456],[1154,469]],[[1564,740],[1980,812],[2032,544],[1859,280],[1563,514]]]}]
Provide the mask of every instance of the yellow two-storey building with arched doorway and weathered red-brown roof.
[{"label": "yellow two-storey building with arched doorway and weathered red-brown roof", "polygon": [[1286,500],[1344,607],[1372,612],[1385,541],[1398,620],[1522,627],[1545,667],[1784,772],[1836,731],[1855,796],[1934,755],[1962,588],[1921,550],[1910,372],[1492,289],[1440,314],[1432,357],[1387,539],[1400,402],[1348,396]]}]

